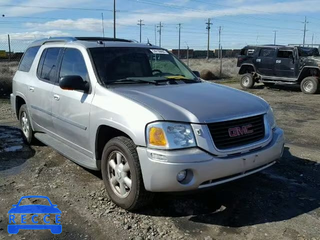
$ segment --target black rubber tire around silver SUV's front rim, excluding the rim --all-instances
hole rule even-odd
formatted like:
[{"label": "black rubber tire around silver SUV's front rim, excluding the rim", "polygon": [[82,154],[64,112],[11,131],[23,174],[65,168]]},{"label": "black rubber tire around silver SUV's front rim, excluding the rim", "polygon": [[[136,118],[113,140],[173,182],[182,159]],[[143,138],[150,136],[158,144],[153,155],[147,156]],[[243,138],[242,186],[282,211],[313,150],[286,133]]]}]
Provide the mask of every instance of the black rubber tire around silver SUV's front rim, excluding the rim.
[{"label": "black rubber tire around silver SUV's front rim, excluding the rim", "polygon": [[[109,180],[110,173],[108,170],[112,171],[112,169],[110,166],[108,168],[108,161],[109,157],[111,157],[114,152],[121,153],[122,156],[124,156],[124,160],[130,167],[129,173],[131,178],[131,188],[128,191],[128,195],[125,197],[119,197],[117,193],[115,193],[116,190],[114,190],[115,188],[111,186],[111,182]],[[142,206],[145,206],[152,200],[153,193],[146,191],[144,188],[140,162],[136,152],[136,145],[131,139],[124,136],[117,136],[105,144],[101,157],[101,172],[105,189],[110,199],[116,205],[126,210],[136,210]],[[115,172],[116,171],[114,171],[114,175],[117,174]],[[126,188],[128,188],[127,185]]]}]

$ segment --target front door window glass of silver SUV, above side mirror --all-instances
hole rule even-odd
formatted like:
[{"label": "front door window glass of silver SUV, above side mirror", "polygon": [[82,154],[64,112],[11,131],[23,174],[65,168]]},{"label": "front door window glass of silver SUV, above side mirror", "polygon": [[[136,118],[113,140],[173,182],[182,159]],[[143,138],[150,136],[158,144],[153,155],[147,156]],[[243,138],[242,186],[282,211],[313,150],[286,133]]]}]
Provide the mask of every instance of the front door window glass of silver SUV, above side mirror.
[{"label": "front door window glass of silver SUV, above side mirror", "polygon": [[63,53],[59,78],[66,75],[79,75],[89,81],[88,71],[81,52],[74,48],[66,48]]}]

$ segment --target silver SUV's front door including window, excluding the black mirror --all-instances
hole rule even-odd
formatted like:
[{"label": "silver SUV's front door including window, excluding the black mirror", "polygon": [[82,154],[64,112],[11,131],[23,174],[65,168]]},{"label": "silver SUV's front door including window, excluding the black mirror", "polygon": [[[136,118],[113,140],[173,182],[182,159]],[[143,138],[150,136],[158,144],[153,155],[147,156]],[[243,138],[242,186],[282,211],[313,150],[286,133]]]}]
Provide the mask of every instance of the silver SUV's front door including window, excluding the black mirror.
[{"label": "silver SUV's front door including window, excluding the black mirror", "polygon": [[[89,82],[80,49],[64,49],[58,79],[66,75],[79,75]],[[61,141],[88,156],[92,156],[89,150],[89,116],[93,93],[90,91],[65,90],[55,84],[51,94],[54,133]]]}]

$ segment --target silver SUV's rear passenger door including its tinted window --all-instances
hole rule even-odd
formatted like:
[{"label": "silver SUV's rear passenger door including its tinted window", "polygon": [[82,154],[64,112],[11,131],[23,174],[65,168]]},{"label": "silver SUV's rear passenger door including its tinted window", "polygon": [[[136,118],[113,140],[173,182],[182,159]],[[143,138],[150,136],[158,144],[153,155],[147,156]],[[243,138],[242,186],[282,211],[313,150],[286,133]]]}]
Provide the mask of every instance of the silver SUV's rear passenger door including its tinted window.
[{"label": "silver SUV's rear passenger door including its tinted window", "polygon": [[32,120],[48,131],[53,130],[50,95],[56,79],[60,49],[48,47],[42,51],[36,72],[32,74],[32,80],[27,85]]}]

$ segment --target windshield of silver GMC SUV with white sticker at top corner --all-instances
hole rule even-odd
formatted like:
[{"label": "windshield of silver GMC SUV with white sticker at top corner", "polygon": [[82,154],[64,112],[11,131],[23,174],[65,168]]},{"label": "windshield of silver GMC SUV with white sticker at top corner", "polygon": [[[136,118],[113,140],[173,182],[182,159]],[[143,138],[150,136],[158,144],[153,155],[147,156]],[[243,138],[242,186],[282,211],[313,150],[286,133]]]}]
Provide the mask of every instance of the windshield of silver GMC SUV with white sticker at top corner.
[{"label": "windshield of silver GMC SUV with white sticker at top corner", "polygon": [[157,82],[163,80],[198,81],[173,54],[144,47],[94,47],[91,56],[105,84],[112,82]]}]

